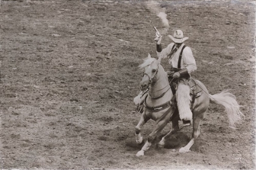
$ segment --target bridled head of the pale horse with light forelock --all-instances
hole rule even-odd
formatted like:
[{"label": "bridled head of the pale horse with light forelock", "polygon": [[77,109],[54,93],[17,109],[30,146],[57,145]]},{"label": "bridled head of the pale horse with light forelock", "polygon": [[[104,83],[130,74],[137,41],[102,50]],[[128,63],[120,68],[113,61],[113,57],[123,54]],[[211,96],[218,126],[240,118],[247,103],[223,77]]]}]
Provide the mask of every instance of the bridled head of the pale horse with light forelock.
[{"label": "bridled head of the pale horse with light forelock", "polygon": [[160,66],[160,62],[161,58],[156,60],[155,58],[151,58],[151,55],[148,54],[148,58],[139,66],[141,69],[144,69],[143,78],[140,81],[141,90],[146,90],[149,86],[154,86],[157,82],[158,72],[160,67],[162,67]]}]

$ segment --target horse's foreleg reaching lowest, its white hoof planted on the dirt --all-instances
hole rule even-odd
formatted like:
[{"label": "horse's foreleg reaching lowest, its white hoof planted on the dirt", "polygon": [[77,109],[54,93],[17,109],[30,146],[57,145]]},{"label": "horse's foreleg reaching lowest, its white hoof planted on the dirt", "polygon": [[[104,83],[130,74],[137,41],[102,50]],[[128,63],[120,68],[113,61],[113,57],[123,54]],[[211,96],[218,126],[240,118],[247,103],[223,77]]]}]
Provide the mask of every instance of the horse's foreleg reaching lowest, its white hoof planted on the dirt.
[{"label": "horse's foreleg reaching lowest, its white hoof planted on the dirt", "polygon": [[144,144],[144,146],[141,148],[141,151],[137,152],[137,157],[143,156],[145,151],[148,151],[148,149],[150,148],[152,141],[154,140],[154,138],[157,136],[157,134],[163,130],[163,128],[166,126],[166,124],[169,121],[170,116],[166,116],[163,120],[160,120],[156,126],[154,131],[151,132],[151,134],[149,134],[148,136],[148,141],[146,141],[146,143]]}]

